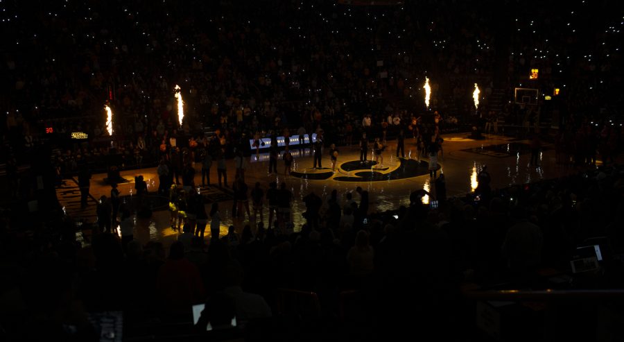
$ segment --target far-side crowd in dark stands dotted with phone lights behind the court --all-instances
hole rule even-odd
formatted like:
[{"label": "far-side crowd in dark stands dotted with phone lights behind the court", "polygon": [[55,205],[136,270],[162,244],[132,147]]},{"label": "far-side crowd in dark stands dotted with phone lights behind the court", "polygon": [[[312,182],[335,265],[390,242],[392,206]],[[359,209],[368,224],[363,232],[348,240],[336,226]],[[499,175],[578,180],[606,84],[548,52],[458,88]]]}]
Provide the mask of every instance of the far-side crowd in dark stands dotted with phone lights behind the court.
[{"label": "far-side crowd in dark stands dotted with phone lights behind the court", "polygon": [[[563,89],[569,99],[560,105],[565,120],[586,115],[600,121],[619,104],[613,96],[616,33],[598,31],[612,20],[592,21],[589,32],[557,31],[566,15],[537,28],[528,19],[530,9],[510,5],[516,10],[488,20],[478,6],[451,2],[372,8],[321,1],[50,2],[35,9],[5,3],[4,12],[15,19],[2,25],[15,35],[5,38],[3,137],[19,153],[54,134],[87,132],[88,144],[64,144],[62,150],[105,153],[110,139],[98,137],[107,135],[107,101],[121,155],[134,155],[139,137],[139,149],[150,155],[175,129],[200,139],[202,128],[220,128],[227,144],[233,127],[247,138],[300,126],[344,135],[340,130],[347,124],[357,129],[364,114],[376,125],[389,112],[404,121],[426,114],[425,75],[433,82],[432,112],[439,110],[454,126],[474,114],[474,82],[485,88],[481,106],[487,112],[494,87],[508,89],[505,99],[514,86],[527,87],[529,67],[541,70],[530,87]],[[499,31],[510,16],[517,17],[515,24]],[[574,25],[578,20],[569,19]],[[592,33],[600,39],[586,44]],[[185,101],[181,127],[175,85]],[[513,107],[496,111],[516,114]],[[46,136],[45,128],[53,135]]]}]

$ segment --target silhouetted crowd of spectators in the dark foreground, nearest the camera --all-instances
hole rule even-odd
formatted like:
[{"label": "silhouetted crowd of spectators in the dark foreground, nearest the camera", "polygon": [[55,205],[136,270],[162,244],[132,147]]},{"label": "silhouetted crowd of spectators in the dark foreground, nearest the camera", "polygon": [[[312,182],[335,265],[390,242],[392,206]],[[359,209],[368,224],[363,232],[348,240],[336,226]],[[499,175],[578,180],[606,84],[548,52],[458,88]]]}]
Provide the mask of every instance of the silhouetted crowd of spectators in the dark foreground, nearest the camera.
[{"label": "silhouetted crowd of spectators in the dark foreground, nearest the camera", "polygon": [[[4,301],[11,314],[2,316],[2,333],[72,341],[93,336],[88,313],[119,310],[128,336],[141,336],[143,327],[195,334],[191,306],[227,295],[233,298],[229,310],[254,334],[284,337],[303,329],[310,336],[375,339],[388,327],[417,327],[458,338],[442,327],[474,321],[459,300],[467,282],[512,289],[622,287],[621,166],[507,189],[489,189],[481,173],[478,179],[476,194],[444,199],[434,189],[417,190],[409,207],[388,212],[376,212],[361,189],[325,199],[310,194],[299,232],[247,226],[205,243],[185,227],[169,250],[156,241],[122,246],[109,232],[82,247],[69,219],[49,214],[37,228],[21,230],[19,217],[3,212],[3,293],[13,300]],[[425,195],[439,207],[423,205]],[[141,220],[149,221],[149,214],[137,224]],[[564,287],[540,276],[544,269],[569,273],[575,248],[584,244],[600,244],[598,273]],[[301,316],[288,316],[279,289],[316,293],[318,316],[305,316],[314,306],[301,302],[295,311]],[[352,296],[345,302],[346,294]],[[329,330],[315,331],[319,327]]]}]

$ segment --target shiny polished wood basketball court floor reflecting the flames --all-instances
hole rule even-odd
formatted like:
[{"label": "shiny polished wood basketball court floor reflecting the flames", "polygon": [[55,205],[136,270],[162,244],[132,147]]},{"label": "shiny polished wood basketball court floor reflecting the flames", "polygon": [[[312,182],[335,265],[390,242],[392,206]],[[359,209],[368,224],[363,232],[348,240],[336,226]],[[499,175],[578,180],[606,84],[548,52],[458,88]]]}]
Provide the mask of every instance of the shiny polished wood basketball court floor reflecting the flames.
[{"label": "shiny polished wood basketball court floor reflecting the flames", "polygon": [[[422,162],[417,162],[417,149],[413,139],[406,139],[406,160],[411,169],[404,171],[401,169],[401,160],[396,157],[396,141],[389,141],[388,147],[383,152],[383,163],[371,166],[363,165],[359,168],[359,148],[357,146],[338,147],[338,163],[336,172],[331,173],[331,162],[329,158],[329,148],[322,157],[324,169],[313,169],[313,157],[309,149],[293,149],[295,157],[293,171],[297,176],[284,176],[284,163],[281,157],[278,159],[278,174],[268,173],[268,154],[261,153],[259,156],[252,154],[248,159],[248,169],[245,172],[245,182],[250,189],[256,182],[260,182],[261,187],[266,190],[270,182],[286,182],[288,189],[293,191],[295,201],[292,207],[292,217],[294,229],[300,229],[304,223],[302,213],[305,212],[305,205],[302,198],[310,191],[315,191],[321,198],[327,198],[333,189],[338,191],[338,198],[344,199],[349,191],[355,191],[356,187],[362,187],[369,191],[370,210],[384,211],[394,210],[400,205],[409,204],[409,195],[417,189],[425,189],[433,193],[433,180],[426,173],[427,157],[422,158]],[[530,142],[512,137],[502,137],[496,135],[485,135],[485,139],[468,139],[467,134],[445,135],[443,153],[438,157],[440,171],[444,173],[447,182],[447,196],[462,196],[477,186],[476,174],[484,166],[492,176],[492,187],[503,188],[514,184],[534,182],[538,180],[557,178],[569,173],[578,172],[577,169],[561,166],[555,162],[554,146],[544,144],[544,151],[539,155],[540,166],[530,165],[530,153],[528,151]],[[369,151],[368,160],[372,160],[372,151]],[[355,162],[354,162],[355,161]],[[348,164],[345,164],[348,163]],[[344,164],[344,166],[343,166]],[[349,167],[347,167],[349,166]],[[413,167],[412,167],[413,166]],[[196,165],[196,184],[201,184],[200,165]],[[227,161],[228,185],[232,185],[234,180],[234,162]],[[364,177],[370,173],[379,173],[379,177],[374,180]],[[390,177],[392,173],[392,177]],[[295,173],[293,173],[294,175]],[[322,180],[314,180],[310,174],[321,174]],[[327,176],[329,174],[329,176]],[[121,176],[128,182],[119,184],[122,196],[133,195],[135,176],[142,175],[148,183],[149,191],[156,191],[158,188],[158,178],[155,168],[137,169],[123,171]],[[388,177],[385,177],[388,176]],[[89,205],[80,208],[80,194],[75,179],[64,180],[64,185],[57,190],[58,198],[64,205],[67,214],[79,221],[85,221],[84,226],[88,227],[96,220],[96,198],[101,195],[110,195],[110,186],[104,182],[104,173],[96,174],[92,178],[90,188]],[[361,178],[361,181],[358,181]],[[250,219],[232,218],[232,193],[228,188],[218,188],[217,172],[215,165],[211,169],[211,187],[202,187],[202,195],[207,201],[207,211],[210,209],[210,202],[219,202],[223,222],[221,224],[221,234],[227,232],[229,225],[234,225],[236,230],[241,231]],[[359,200],[354,194],[354,199]],[[132,200],[130,197],[127,200]],[[428,200],[428,198],[424,198]],[[161,203],[162,204],[162,203]],[[268,224],[268,208],[265,206],[264,224]],[[252,218],[252,221],[254,218]],[[253,227],[253,225],[252,225]],[[171,243],[180,234],[177,230],[172,230],[170,226],[170,214],[166,206],[156,207],[152,221],[150,223],[150,239]],[[207,229],[209,230],[209,229]],[[90,230],[84,230],[80,239],[88,243]],[[206,239],[209,239],[207,234]]]}]

